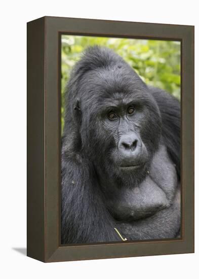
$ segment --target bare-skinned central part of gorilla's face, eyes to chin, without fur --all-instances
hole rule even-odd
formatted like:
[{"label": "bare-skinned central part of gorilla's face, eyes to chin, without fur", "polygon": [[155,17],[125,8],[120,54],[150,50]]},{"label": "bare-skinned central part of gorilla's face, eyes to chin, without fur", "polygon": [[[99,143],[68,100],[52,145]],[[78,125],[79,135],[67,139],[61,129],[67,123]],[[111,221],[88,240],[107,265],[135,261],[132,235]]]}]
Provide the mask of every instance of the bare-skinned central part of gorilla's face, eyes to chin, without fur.
[{"label": "bare-skinned central part of gorilla's face, eyes to chin, without fur", "polygon": [[101,119],[104,133],[112,138],[109,159],[119,171],[143,168],[149,156],[141,136],[146,125],[146,110],[125,93],[115,93],[112,97],[110,107],[105,101]]}]

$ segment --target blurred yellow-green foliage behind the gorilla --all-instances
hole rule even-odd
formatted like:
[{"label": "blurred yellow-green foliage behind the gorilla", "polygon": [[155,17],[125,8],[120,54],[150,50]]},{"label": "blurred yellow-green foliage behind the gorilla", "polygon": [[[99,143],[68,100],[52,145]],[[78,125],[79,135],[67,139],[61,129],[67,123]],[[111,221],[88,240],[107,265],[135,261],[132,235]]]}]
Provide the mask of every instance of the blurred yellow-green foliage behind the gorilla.
[{"label": "blurred yellow-green foliage behind the gorilla", "polygon": [[61,128],[64,125],[64,94],[72,66],[85,48],[93,45],[113,49],[142,80],[165,89],[180,100],[180,42],[104,37],[61,37]]}]

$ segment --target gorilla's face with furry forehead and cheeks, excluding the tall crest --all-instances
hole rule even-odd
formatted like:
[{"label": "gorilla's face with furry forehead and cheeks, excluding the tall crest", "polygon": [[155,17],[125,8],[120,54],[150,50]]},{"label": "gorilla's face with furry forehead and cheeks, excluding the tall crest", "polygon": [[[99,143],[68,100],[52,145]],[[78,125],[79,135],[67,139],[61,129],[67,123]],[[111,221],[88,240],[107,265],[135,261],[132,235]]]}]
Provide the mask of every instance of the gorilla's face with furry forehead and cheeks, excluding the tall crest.
[{"label": "gorilla's face with furry forehead and cheeks, excluding the tall crest", "polygon": [[161,133],[160,112],[146,85],[129,67],[98,69],[82,84],[82,142],[93,163],[112,175],[146,172]]}]

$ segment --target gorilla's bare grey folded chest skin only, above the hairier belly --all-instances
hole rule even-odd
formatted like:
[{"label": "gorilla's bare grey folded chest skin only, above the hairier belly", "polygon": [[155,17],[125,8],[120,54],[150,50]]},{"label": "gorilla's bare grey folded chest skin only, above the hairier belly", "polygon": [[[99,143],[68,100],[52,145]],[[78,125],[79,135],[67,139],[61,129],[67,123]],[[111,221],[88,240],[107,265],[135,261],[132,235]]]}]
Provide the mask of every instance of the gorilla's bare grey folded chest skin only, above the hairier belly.
[{"label": "gorilla's bare grey folded chest skin only, above the hairier belly", "polygon": [[[162,160],[164,158],[164,161]],[[120,187],[109,195],[108,203],[116,220],[132,221],[154,215],[172,204],[177,174],[166,148],[160,146],[153,156],[148,175],[139,185]]]}]

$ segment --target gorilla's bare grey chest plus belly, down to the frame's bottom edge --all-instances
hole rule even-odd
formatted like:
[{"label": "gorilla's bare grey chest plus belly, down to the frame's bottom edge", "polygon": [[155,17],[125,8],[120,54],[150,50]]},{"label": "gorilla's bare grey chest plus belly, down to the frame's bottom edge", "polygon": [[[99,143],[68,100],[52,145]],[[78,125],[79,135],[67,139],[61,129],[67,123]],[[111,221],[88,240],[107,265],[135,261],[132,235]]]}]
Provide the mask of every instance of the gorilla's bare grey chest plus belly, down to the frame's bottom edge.
[{"label": "gorilla's bare grey chest plus belly, down to the frame's bottom edge", "polygon": [[164,146],[153,156],[148,172],[136,187],[120,187],[108,197],[115,227],[127,239],[175,237],[180,227],[180,186]]}]

